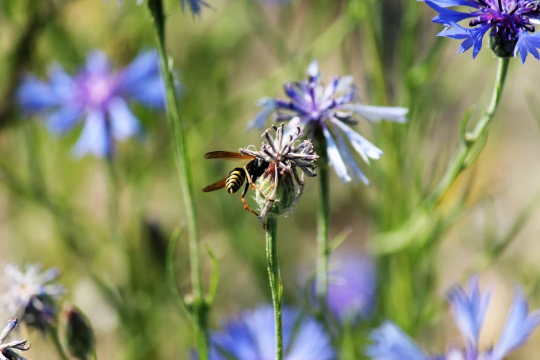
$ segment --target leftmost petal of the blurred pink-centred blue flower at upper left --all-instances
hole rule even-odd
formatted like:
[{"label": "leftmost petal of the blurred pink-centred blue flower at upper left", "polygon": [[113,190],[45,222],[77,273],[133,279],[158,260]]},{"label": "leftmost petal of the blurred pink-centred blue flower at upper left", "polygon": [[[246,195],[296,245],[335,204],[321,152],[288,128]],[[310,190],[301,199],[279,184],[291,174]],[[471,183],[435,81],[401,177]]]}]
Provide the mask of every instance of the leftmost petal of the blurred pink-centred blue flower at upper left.
[{"label": "leftmost petal of the blurred pink-centred blue flower at upper left", "polygon": [[17,90],[17,102],[23,110],[41,112],[60,105],[60,99],[50,84],[28,76]]}]

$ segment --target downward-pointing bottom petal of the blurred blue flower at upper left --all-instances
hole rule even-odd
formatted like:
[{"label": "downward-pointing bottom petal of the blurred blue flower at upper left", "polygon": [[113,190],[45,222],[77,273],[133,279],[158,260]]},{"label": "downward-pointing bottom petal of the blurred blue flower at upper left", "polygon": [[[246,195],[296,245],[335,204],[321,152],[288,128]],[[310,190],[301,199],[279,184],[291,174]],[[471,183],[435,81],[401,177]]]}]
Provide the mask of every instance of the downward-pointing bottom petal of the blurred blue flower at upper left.
[{"label": "downward-pointing bottom petal of the blurred blue flower at upper left", "polygon": [[110,154],[111,145],[105,114],[99,111],[90,112],[86,117],[81,137],[73,147],[75,156],[83,157],[90,152],[96,157],[106,157]]}]

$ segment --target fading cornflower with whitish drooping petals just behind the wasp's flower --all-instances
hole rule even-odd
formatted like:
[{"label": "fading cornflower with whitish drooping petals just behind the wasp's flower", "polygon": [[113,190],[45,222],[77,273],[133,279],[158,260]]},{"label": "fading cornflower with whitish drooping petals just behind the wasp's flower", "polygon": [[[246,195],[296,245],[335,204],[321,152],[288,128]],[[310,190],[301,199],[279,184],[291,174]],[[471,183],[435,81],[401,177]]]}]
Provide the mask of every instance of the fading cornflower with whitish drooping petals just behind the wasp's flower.
[{"label": "fading cornflower with whitish drooping petals just behind the wasp's flower", "polygon": [[258,101],[263,110],[248,128],[262,128],[270,114],[277,112],[278,121],[290,121],[289,131],[300,126],[310,139],[325,139],[330,165],[343,182],[361,180],[368,185],[368,178],[354,159],[350,146],[368,163],[370,158],[379,159],[383,152],[349,126],[358,123],[356,115],[371,122],[388,119],[403,123],[408,109],[361,105],[357,102],[357,88],[352,81],[351,76],[334,77],[330,85],[324,86],[319,65],[313,61],[308,68],[308,79],[285,84],[288,101],[268,97]]}]

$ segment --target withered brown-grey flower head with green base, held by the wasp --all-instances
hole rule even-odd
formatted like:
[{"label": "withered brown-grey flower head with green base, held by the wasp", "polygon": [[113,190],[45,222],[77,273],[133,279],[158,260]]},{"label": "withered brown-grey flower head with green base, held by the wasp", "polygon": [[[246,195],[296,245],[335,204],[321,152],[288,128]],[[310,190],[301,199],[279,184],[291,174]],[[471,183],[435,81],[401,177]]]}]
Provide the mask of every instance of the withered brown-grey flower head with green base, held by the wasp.
[{"label": "withered brown-grey flower head with green base, held by the wasp", "polygon": [[[270,135],[270,130],[276,133],[275,137]],[[319,157],[313,150],[312,141],[299,141],[302,132],[299,127],[296,130],[286,137],[285,124],[279,128],[272,126],[262,135],[266,142],[263,142],[261,150],[240,149],[241,154],[269,163],[263,176],[255,183],[255,199],[261,220],[292,210],[303,192],[304,174],[316,176],[313,163]],[[301,170],[300,175],[298,170]]]}]

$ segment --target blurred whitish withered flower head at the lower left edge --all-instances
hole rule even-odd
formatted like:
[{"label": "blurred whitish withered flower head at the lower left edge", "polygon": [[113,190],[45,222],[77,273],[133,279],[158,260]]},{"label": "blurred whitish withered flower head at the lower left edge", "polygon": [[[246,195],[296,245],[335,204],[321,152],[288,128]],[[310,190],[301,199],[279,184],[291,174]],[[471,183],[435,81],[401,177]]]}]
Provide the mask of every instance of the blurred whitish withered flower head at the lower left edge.
[{"label": "blurred whitish withered flower head at the lower left edge", "polygon": [[57,268],[41,272],[38,265],[28,265],[25,271],[6,265],[0,284],[3,289],[0,308],[17,316],[28,326],[45,332],[57,321],[58,299],[63,286],[51,283],[60,275]]}]

